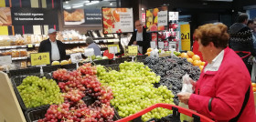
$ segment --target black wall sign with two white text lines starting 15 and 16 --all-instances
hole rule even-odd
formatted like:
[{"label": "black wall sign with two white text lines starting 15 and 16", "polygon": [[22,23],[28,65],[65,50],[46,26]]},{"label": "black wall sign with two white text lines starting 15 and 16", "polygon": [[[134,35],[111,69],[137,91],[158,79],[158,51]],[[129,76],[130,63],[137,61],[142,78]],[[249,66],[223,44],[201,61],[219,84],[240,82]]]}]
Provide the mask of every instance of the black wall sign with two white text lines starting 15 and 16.
[{"label": "black wall sign with two white text lines starting 15 and 16", "polygon": [[12,25],[56,25],[57,12],[56,9],[11,7]]}]

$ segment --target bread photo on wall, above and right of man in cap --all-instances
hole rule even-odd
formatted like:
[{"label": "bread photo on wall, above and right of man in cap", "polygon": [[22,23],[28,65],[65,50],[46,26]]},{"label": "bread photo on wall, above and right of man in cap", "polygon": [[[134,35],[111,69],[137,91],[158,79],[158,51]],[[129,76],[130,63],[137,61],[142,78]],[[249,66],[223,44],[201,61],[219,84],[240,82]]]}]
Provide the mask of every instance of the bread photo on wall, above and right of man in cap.
[{"label": "bread photo on wall, above and right of man in cap", "polygon": [[84,22],[84,10],[64,10],[64,21],[65,22]]}]

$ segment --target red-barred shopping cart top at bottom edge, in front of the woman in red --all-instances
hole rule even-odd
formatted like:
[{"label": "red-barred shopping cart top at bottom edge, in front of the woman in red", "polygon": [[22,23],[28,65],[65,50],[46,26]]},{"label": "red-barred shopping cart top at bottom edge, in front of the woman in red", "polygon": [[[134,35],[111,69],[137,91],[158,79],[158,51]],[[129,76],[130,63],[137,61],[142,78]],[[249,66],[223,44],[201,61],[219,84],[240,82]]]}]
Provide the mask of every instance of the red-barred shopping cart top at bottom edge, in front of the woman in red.
[{"label": "red-barred shopping cart top at bottom edge, in front of the woman in red", "polygon": [[155,104],[151,107],[147,107],[144,110],[142,110],[142,111],[140,111],[136,114],[133,114],[132,116],[123,117],[122,119],[119,119],[115,122],[128,122],[128,121],[137,119],[138,117],[143,116],[145,113],[150,112],[151,110],[153,110],[156,107],[163,107],[163,108],[166,108],[166,109],[173,110],[173,117],[176,117],[178,120],[179,120],[179,117],[180,117],[180,113],[182,113],[182,114],[187,115],[189,117],[194,117],[194,122],[214,122],[210,118],[205,117],[203,115],[200,115],[197,112],[192,111],[190,109],[183,108],[183,107],[177,107],[175,105],[170,105],[170,104],[162,104],[162,103]]}]

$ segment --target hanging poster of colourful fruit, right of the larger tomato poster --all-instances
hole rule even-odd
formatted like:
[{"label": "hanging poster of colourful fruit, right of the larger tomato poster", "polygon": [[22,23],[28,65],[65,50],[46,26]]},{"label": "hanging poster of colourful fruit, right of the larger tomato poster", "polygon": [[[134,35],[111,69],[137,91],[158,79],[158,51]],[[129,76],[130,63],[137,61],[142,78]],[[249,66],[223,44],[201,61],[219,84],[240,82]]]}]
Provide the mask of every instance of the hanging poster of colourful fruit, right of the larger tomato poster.
[{"label": "hanging poster of colourful fruit, right of the larger tomato poster", "polygon": [[145,16],[145,25],[147,28],[147,32],[156,32],[168,29],[167,6],[147,9]]}]

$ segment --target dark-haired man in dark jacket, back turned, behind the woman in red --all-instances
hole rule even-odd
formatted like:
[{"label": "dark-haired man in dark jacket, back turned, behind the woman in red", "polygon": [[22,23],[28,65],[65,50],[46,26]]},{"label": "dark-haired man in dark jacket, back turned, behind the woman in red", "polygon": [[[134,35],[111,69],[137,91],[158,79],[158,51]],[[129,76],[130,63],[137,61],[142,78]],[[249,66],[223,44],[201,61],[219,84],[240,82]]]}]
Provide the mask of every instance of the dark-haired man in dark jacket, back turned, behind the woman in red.
[{"label": "dark-haired man in dark jacket, back turned, behind the woman in red", "polygon": [[[239,15],[238,23],[235,23],[229,27],[229,47],[234,51],[246,51],[251,52],[251,56],[256,56],[256,52],[253,48],[252,31],[247,26],[248,15],[242,13]],[[251,74],[251,64],[248,63],[248,59],[244,59],[244,62]]]}]

